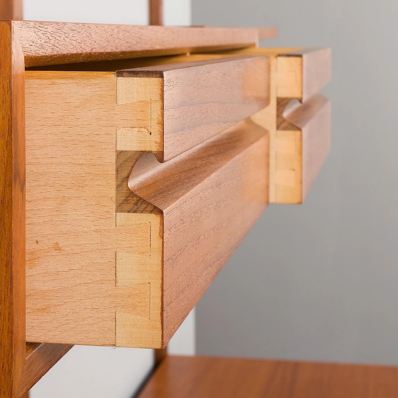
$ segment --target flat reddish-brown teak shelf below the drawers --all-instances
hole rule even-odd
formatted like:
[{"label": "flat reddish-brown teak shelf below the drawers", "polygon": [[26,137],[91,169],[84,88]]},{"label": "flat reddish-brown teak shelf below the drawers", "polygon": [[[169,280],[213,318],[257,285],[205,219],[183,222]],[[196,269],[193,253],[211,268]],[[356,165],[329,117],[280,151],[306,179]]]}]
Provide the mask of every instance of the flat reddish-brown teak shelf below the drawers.
[{"label": "flat reddish-brown teak shelf below the drawers", "polygon": [[398,368],[168,356],[137,398],[397,398]]}]

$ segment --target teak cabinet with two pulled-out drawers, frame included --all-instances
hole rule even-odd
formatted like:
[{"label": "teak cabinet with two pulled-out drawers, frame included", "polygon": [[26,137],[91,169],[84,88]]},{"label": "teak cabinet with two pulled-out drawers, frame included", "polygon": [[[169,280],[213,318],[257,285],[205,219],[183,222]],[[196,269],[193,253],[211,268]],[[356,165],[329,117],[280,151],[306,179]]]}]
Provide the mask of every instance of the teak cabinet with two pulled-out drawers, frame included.
[{"label": "teak cabinet with two pulled-out drawers, frame included", "polygon": [[0,397],[71,343],[163,347],[269,199],[302,201],[328,152],[330,52],[258,37],[0,21]]}]

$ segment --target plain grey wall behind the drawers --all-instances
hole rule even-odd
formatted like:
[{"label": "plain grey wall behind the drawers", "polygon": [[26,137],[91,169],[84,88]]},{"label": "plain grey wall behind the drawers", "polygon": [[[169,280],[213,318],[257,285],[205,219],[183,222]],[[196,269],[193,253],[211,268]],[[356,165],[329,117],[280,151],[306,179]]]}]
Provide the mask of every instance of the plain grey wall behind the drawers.
[{"label": "plain grey wall behind the drawers", "polygon": [[193,24],[330,46],[332,152],[270,205],[197,305],[197,353],[398,364],[398,2],[193,0]]}]

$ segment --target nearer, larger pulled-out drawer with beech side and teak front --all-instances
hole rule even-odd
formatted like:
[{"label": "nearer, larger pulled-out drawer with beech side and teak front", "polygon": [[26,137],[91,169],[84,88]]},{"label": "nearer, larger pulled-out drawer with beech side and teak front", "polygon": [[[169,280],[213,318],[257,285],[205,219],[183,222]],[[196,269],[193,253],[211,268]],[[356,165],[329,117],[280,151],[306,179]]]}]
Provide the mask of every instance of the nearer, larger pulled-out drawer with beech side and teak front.
[{"label": "nearer, larger pulled-out drawer with beech side and teak front", "polygon": [[26,71],[27,341],[163,347],[267,205],[268,102],[266,57]]}]

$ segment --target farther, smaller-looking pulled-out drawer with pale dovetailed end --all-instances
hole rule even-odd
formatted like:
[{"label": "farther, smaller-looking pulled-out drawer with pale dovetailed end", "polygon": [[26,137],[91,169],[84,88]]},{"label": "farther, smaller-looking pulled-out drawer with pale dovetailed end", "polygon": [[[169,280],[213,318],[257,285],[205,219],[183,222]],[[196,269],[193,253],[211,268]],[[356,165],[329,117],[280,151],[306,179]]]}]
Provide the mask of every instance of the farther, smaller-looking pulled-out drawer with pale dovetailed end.
[{"label": "farther, smaller-looking pulled-out drawer with pale dovetailed end", "polygon": [[[270,104],[252,116],[270,132],[269,201],[302,203],[330,148],[330,101],[320,101],[322,107],[304,106],[330,82],[330,49],[259,47],[226,54],[270,57]],[[308,112],[313,120],[307,120],[305,126],[292,122],[291,128],[281,127],[283,114],[287,116],[285,106],[291,99],[302,102],[302,111]]]}]

